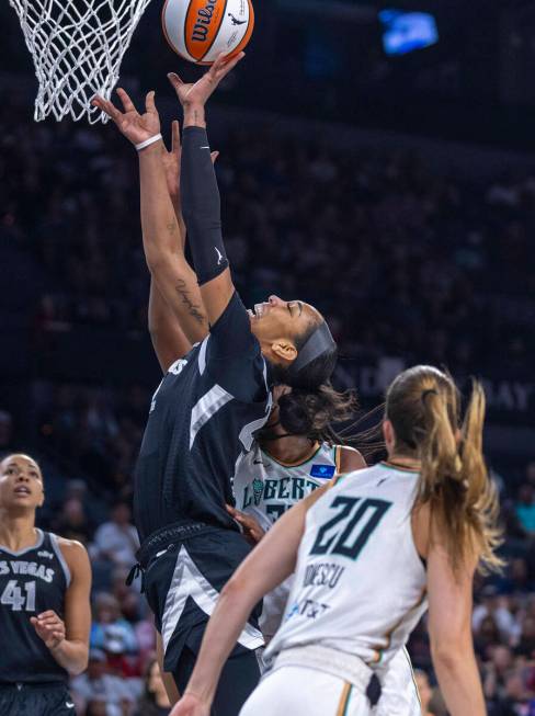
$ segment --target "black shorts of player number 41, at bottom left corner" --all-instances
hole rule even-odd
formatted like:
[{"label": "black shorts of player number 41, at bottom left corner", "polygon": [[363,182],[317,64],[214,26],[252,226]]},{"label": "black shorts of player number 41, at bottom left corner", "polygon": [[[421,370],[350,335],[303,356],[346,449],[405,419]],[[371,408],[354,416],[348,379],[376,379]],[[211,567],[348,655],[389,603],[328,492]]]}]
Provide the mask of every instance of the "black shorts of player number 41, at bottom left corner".
[{"label": "black shorts of player number 41, at bottom left corner", "polygon": [[2,716],[76,716],[67,684],[0,684]]}]

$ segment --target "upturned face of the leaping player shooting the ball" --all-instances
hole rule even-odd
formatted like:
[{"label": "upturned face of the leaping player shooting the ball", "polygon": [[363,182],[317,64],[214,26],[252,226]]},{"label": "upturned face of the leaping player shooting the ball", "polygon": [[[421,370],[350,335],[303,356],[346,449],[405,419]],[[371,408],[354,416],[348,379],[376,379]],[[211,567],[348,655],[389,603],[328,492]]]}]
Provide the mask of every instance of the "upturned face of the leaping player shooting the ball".
[{"label": "upturned face of the leaping player shooting the ball", "polygon": [[311,326],[322,320],[321,314],[301,300],[283,300],[270,296],[263,304],[249,310],[251,330],[262,346],[275,341],[289,341],[293,344]]}]

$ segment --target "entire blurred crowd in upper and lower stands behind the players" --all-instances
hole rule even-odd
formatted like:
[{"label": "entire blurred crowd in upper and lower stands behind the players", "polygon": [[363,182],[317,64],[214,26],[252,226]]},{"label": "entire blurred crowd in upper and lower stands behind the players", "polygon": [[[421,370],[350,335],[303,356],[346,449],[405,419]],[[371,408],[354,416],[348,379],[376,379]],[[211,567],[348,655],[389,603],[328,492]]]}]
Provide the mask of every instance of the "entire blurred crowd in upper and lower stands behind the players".
[{"label": "entire blurred crowd in upper and lower stands behind the players", "polygon": [[[26,118],[16,96],[0,107],[5,339],[24,326],[38,352],[79,327],[145,333],[133,149],[111,126]],[[237,127],[217,148],[226,246],[248,304],[271,293],[317,304],[342,354],[530,376],[534,178],[466,184],[413,154],[353,152],[270,127]],[[24,405],[27,429],[110,510],[103,522],[84,481],[72,480],[45,525],[86,544],[93,565],[90,666],[72,682],[79,714],[163,716],[153,626],[136,584],[125,586],[137,548],[132,471],[155,386],[144,376],[124,388],[114,376],[98,386],[42,378]],[[0,406],[0,450],[15,446],[11,413]],[[514,487],[497,480],[508,567],[477,588],[476,650],[489,715],[535,716],[535,463]],[[443,716],[424,624],[410,650],[425,716]]]}]

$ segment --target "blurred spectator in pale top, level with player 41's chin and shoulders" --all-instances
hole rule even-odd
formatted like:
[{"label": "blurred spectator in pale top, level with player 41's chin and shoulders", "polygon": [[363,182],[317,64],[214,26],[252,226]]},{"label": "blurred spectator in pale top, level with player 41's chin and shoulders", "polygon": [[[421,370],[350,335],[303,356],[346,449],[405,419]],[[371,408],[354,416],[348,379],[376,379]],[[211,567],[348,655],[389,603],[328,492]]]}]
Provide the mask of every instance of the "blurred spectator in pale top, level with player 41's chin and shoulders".
[{"label": "blurred spectator in pale top, level with player 41's chin and shoulders", "polygon": [[136,564],[139,547],[136,527],[130,522],[132,512],[126,502],[115,504],[110,521],[96,530],[93,542],[93,556],[107,559],[117,567],[130,568]]}]

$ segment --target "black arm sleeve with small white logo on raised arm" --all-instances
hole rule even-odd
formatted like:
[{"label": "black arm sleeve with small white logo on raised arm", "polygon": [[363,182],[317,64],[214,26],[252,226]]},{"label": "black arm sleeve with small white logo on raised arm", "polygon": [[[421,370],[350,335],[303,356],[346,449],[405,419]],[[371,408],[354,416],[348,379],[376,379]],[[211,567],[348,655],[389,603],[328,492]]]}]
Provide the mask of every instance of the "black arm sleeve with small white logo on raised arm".
[{"label": "black arm sleeve with small white logo on raised arm", "polygon": [[198,284],[228,266],[223,243],[219,190],[206,129],[186,127],[182,136],[182,214]]}]

